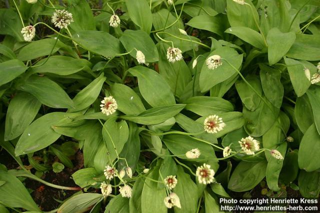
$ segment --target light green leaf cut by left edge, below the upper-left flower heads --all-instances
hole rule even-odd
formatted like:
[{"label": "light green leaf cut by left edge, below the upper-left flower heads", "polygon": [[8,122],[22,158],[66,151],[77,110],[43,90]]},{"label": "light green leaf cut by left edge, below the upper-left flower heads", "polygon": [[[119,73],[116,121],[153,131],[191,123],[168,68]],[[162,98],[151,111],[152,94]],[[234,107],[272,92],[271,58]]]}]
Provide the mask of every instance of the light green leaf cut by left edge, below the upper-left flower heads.
[{"label": "light green leaf cut by left edge, below the upper-left flower heads", "polygon": [[13,59],[0,63],[0,86],[21,75],[27,67],[22,61]]}]

